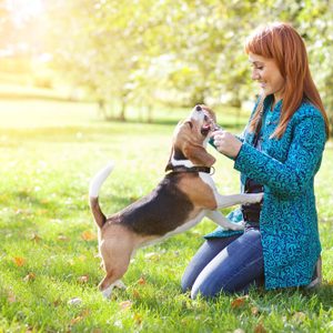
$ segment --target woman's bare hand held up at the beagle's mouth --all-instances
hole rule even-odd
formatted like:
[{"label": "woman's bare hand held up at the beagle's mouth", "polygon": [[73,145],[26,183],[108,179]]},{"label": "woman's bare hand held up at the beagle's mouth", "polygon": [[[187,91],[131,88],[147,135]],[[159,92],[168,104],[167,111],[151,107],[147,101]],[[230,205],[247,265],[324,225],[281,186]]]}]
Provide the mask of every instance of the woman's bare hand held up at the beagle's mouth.
[{"label": "woman's bare hand held up at the beagle's mouth", "polygon": [[212,137],[219,152],[232,159],[236,158],[242,148],[242,142],[239,139],[222,130],[214,131]]}]

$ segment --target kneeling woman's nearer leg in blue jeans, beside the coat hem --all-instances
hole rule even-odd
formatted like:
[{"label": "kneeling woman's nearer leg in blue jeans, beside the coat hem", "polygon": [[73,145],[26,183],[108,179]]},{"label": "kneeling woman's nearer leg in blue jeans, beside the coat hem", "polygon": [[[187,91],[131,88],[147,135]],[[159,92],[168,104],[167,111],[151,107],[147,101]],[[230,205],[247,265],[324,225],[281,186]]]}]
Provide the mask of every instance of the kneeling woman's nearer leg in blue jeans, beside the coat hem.
[{"label": "kneeling woman's nearer leg in blue jeans, beside the coat hem", "polygon": [[244,291],[255,280],[263,278],[263,251],[259,230],[250,230],[225,246],[201,270],[191,290],[214,296],[221,291],[226,293]]}]

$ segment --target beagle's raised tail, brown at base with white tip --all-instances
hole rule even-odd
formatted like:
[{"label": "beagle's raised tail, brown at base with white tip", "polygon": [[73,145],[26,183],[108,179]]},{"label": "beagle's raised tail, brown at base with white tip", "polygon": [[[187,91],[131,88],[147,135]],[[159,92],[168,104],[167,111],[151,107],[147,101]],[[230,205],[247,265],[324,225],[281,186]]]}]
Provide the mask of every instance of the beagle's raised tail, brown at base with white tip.
[{"label": "beagle's raised tail, brown at base with white tip", "polygon": [[113,163],[110,162],[107,167],[104,167],[93,176],[89,186],[90,209],[93,214],[94,221],[99,228],[102,228],[107,221],[107,218],[103,214],[99,204],[99,192],[103,182],[107,180],[112,170]]}]

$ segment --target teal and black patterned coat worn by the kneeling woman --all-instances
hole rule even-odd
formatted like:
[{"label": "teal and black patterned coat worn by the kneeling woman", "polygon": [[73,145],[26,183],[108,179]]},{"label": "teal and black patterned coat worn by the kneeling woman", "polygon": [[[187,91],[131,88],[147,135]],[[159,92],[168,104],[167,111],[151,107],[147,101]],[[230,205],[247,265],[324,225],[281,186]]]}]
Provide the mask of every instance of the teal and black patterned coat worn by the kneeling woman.
[{"label": "teal and black patterned coat worn by the kneeling woman", "polygon": [[[272,97],[264,101],[262,151],[252,145],[253,133],[245,129],[242,148],[234,161],[246,178],[264,185],[260,230],[264,255],[265,287],[301,286],[311,282],[321,253],[314,195],[314,175],[320,169],[326,141],[321,112],[303,102],[291,118],[281,139],[270,139],[275,130],[282,102],[271,111]],[[228,218],[242,221],[240,209]],[[218,228],[205,239],[234,234]]]}]

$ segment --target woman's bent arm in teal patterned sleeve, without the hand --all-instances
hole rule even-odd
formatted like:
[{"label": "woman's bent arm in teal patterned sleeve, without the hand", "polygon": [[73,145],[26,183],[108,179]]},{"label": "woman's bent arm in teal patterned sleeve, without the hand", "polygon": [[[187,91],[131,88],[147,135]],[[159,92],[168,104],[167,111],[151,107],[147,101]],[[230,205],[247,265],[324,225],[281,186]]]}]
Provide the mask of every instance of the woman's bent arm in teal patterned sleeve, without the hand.
[{"label": "woman's bent arm in teal patterned sleeve, without the hand", "polygon": [[[273,139],[274,140],[274,139]],[[325,145],[325,124],[320,115],[305,117],[294,128],[284,163],[243,142],[234,169],[280,194],[294,195],[315,174]]]}]

